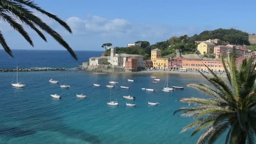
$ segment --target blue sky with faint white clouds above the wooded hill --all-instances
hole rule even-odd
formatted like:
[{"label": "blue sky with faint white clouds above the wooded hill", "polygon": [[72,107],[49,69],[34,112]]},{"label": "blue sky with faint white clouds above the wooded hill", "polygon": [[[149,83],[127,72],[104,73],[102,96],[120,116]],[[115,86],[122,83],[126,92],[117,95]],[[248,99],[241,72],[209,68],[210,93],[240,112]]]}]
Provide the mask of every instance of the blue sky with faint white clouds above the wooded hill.
[{"label": "blue sky with faint white clouds above the wooded hill", "polygon": [[[42,19],[56,29],[74,50],[101,51],[102,43],[126,46],[137,40],[151,44],[173,35],[194,35],[203,30],[235,28],[256,33],[255,0],[35,0],[58,15],[73,30],[65,32],[56,22]],[[28,30],[32,48],[16,31],[0,21],[0,29],[12,49],[63,50],[53,38],[48,43]]]}]

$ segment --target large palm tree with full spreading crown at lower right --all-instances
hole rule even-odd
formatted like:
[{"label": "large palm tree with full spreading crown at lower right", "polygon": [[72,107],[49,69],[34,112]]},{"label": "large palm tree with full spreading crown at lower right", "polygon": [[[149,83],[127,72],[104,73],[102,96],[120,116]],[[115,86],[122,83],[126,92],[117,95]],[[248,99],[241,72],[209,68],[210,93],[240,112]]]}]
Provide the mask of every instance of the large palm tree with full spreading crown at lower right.
[{"label": "large palm tree with full spreading crown at lower right", "polygon": [[194,117],[195,121],[181,132],[195,128],[191,136],[199,131],[204,131],[197,144],[215,142],[222,134],[227,132],[226,144],[254,143],[256,134],[256,64],[253,59],[243,61],[238,70],[235,57],[229,55],[228,67],[222,58],[229,83],[225,83],[220,77],[208,68],[213,77],[203,77],[211,83],[189,84],[211,96],[211,99],[183,98],[180,101],[195,104],[195,107],[181,108],[177,112],[183,112],[180,116]]}]

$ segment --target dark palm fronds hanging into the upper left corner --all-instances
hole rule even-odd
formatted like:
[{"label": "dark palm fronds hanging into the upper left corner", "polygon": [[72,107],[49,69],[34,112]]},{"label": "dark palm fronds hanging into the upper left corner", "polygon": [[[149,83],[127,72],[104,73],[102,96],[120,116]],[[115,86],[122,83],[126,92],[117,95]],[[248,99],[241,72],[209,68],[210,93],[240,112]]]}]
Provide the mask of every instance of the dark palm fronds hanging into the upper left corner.
[{"label": "dark palm fronds hanging into the upper left corner", "polygon": [[[67,51],[69,51],[69,53],[77,60],[75,52],[72,50],[69,44],[63,40],[61,35],[59,35],[58,32],[54,31],[47,24],[45,24],[45,22],[43,22],[42,19],[40,19],[38,16],[35,16],[35,13],[31,11],[31,9],[43,13],[49,18],[57,21],[69,33],[72,33],[72,30],[66,22],[62,21],[58,16],[43,10],[40,8],[40,6],[34,3],[33,0],[0,0],[0,19],[10,24],[10,26],[18,31],[31,46],[34,46],[34,44],[29,37],[29,34],[17,21],[21,21],[23,24],[33,29],[45,42],[47,42],[45,36],[40,31],[43,30],[44,32],[51,35],[60,45],[66,48]],[[3,46],[6,53],[13,57],[11,48],[7,45],[1,31],[0,44]]]}]

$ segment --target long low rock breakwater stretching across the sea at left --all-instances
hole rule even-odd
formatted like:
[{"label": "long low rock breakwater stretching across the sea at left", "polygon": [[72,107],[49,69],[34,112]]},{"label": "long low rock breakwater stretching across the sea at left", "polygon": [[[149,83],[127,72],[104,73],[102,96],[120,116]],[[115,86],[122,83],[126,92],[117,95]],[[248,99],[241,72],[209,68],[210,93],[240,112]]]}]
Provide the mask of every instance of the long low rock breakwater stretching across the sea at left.
[{"label": "long low rock breakwater stretching across the sea at left", "polygon": [[[38,71],[65,71],[64,68],[29,68],[29,69],[18,69],[19,72],[38,72]],[[0,69],[0,72],[16,72],[17,69]]]}]

